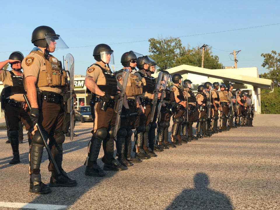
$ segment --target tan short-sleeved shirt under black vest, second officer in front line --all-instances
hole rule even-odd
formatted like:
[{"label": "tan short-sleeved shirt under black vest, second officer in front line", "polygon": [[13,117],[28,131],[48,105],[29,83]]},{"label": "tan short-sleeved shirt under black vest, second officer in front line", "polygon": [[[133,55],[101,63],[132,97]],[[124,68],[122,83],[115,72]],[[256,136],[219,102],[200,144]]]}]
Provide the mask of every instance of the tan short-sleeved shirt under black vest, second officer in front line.
[{"label": "tan short-sleeved shirt under black vest, second officer in front line", "polygon": [[[100,66],[104,65],[104,63],[101,61],[97,61],[96,64]],[[104,69],[108,71],[108,74],[112,74],[109,67],[105,66]],[[85,78],[87,77],[92,77],[97,85],[106,85],[106,78],[103,74],[103,71],[95,64],[92,64],[90,67],[88,67]],[[111,96],[111,98],[113,99],[114,97]]]}]

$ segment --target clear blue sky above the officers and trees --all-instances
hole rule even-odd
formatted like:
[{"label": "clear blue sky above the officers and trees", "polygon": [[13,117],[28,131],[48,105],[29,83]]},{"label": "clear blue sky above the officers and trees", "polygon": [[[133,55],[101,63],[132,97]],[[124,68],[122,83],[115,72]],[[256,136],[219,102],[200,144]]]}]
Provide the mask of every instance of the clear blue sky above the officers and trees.
[{"label": "clear blue sky above the officers and trees", "polygon": [[[120,69],[123,53],[148,55],[149,42],[144,40],[158,36],[187,36],[182,43],[191,47],[208,44],[224,66],[234,65],[229,53],[241,50],[237,67],[258,67],[259,74],[267,72],[260,54],[279,52],[280,24],[188,36],[280,23],[279,1],[3,1],[1,8],[0,60],[13,51],[27,55],[34,47],[32,31],[47,25],[69,46],[53,55],[62,60],[71,53],[75,74],[85,75],[95,63],[92,52],[99,43],[111,44],[115,68]],[[123,43],[133,41],[142,42]]]}]

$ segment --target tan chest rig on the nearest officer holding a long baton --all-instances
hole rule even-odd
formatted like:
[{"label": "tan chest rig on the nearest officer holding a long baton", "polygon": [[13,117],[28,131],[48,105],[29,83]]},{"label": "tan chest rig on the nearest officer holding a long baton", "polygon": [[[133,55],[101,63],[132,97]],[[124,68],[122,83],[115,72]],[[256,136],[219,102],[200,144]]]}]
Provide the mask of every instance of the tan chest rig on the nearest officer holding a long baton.
[{"label": "tan chest rig on the nearest officer holding a long baton", "polygon": [[[33,52],[42,56],[38,51]],[[60,88],[62,86],[67,86],[67,73],[60,68],[59,61],[52,55],[50,55],[48,59],[44,56],[42,57],[44,65],[39,71],[37,82],[35,84],[36,88],[44,86]],[[26,87],[26,81],[24,80],[24,88],[26,89]]]}]

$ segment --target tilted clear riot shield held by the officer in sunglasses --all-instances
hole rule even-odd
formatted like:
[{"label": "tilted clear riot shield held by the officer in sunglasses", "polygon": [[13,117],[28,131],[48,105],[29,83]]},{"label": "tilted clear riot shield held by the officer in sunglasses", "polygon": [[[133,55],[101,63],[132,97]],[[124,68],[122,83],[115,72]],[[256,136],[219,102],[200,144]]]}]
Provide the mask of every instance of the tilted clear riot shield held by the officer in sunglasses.
[{"label": "tilted clear riot shield held by the officer in sunglasses", "polygon": [[119,128],[119,123],[120,123],[120,115],[122,112],[122,104],[123,104],[123,99],[125,97],[125,89],[126,89],[126,85],[127,85],[127,81],[128,81],[128,77],[129,77],[129,69],[125,68],[122,71],[122,90],[120,93],[120,99],[118,100],[118,105],[117,105],[117,118],[116,118],[116,122],[115,122],[115,128],[114,128],[114,136],[117,136],[117,132],[118,132],[118,128]]}]

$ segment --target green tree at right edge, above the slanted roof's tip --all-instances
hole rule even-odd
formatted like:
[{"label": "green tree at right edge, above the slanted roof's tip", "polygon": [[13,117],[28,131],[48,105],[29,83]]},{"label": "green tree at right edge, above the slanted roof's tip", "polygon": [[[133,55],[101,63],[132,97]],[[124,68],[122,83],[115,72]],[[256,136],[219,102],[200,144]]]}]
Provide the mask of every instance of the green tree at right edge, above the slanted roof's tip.
[{"label": "green tree at right edge, above the slanted roof's tip", "polygon": [[264,58],[262,67],[269,70],[268,73],[261,74],[262,78],[271,79],[273,83],[280,84],[280,53],[272,50],[271,53],[262,53]]}]

